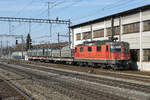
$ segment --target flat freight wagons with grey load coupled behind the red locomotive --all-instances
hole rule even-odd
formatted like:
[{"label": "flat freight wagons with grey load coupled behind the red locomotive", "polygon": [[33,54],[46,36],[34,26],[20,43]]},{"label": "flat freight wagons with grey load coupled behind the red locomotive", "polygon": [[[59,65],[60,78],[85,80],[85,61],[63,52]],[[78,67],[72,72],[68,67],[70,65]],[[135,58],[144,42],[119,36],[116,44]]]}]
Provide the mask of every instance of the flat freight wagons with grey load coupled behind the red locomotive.
[{"label": "flat freight wagons with grey load coupled behind the red locomotive", "polygon": [[70,49],[68,46],[28,50],[28,59],[33,61],[60,61],[62,63],[72,63],[73,57],[74,50]]}]

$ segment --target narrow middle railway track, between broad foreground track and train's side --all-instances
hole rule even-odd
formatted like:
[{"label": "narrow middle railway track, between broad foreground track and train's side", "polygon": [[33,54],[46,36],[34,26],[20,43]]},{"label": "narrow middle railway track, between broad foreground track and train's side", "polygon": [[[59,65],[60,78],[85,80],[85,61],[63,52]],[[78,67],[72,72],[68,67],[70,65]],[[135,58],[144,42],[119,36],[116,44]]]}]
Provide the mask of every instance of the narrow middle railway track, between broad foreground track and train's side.
[{"label": "narrow middle railway track, between broad foreground track and train's side", "polygon": [[[105,84],[105,85],[109,85],[109,86],[150,93],[150,86],[148,86],[148,85],[129,83],[129,82],[125,82],[125,81],[107,79],[107,78],[103,78],[103,77],[95,77],[95,76],[89,76],[89,75],[87,76],[86,74],[66,72],[66,71],[61,71],[61,70],[56,70],[56,69],[49,69],[49,68],[45,68],[45,67],[38,67],[38,66],[34,66],[34,65],[25,65],[25,64],[18,64],[18,65],[22,66],[24,68],[37,69],[37,70],[50,72],[50,73],[57,73],[59,75],[75,77],[77,79],[82,79],[82,80],[86,80],[86,81],[90,81],[90,82],[96,82],[96,83]],[[135,77],[135,76],[132,76],[132,77]]]}]

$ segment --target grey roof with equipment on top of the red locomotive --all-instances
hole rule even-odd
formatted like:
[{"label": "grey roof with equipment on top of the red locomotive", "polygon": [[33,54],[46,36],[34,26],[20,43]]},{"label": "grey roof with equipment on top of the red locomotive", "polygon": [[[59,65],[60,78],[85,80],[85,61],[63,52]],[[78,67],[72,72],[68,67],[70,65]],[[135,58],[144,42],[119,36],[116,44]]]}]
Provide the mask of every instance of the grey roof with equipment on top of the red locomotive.
[{"label": "grey roof with equipment on top of the red locomotive", "polygon": [[104,45],[104,44],[121,44],[126,42],[119,41],[111,41],[111,40],[103,40],[103,41],[85,41],[82,44],[78,44],[77,46],[90,46],[90,45]]}]

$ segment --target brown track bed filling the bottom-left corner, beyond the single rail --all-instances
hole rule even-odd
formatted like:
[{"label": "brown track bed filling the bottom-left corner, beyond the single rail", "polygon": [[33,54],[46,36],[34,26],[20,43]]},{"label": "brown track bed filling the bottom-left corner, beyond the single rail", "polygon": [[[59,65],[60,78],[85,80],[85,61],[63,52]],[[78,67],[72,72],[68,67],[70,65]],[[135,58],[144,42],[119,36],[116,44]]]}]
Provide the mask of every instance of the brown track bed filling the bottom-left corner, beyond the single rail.
[{"label": "brown track bed filling the bottom-left corner, beyond the single rail", "polygon": [[0,100],[33,100],[9,81],[0,79]]}]

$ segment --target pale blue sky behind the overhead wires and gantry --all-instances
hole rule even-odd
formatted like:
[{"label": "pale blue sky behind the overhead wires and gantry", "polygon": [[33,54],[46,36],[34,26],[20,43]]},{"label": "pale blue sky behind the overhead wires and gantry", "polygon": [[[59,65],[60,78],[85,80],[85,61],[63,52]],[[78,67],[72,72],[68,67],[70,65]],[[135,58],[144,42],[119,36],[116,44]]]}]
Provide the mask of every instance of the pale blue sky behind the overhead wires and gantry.
[{"label": "pale blue sky behind the overhead wires and gantry", "polygon": [[[150,0],[0,0],[0,17],[47,19],[47,2],[50,2],[50,19],[71,19],[72,25],[150,4]],[[33,44],[50,43],[57,42],[58,32],[67,35],[67,27],[56,24],[0,22],[0,34],[26,37],[30,31]],[[3,37],[1,40],[15,45],[15,39]],[[68,38],[60,37],[60,40],[67,41]]]}]

